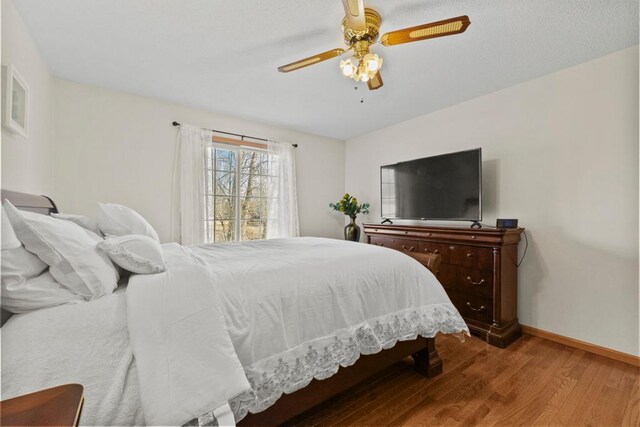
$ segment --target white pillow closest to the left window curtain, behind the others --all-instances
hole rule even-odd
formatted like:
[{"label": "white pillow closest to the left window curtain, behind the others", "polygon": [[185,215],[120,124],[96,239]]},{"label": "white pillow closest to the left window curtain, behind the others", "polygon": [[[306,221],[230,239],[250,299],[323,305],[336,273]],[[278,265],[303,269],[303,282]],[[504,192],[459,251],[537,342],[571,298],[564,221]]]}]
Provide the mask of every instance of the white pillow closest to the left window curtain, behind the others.
[{"label": "white pillow closest to the left window curtain, behind the others", "polygon": [[98,228],[105,236],[140,234],[160,241],[158,233],[138,212],[115,203],[98,203]]}]

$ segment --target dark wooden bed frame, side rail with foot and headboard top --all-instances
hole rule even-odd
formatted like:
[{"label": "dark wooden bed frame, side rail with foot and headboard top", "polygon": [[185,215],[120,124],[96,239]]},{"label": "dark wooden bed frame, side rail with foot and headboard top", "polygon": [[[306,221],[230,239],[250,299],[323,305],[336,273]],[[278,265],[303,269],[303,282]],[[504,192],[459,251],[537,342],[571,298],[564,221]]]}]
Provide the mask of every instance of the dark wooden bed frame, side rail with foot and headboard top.
[{"label": "dark wooden bed frame, side rail with foot and headboard top", "polygon": [[[53,200],[46,196],[2,190],[2,201],[5,200],[9,200],[19,209],[44,215],[58,212]],[[433,265],[437,266],[438,263],[433,263]],[[340,368],[330,378],[322,381],[314,379],[307,387],[295,393],[284,394],[274,405],[257,414],[248,414],[238,424],[266,426],[290,421],[321,403],[346,392],[364,380],[374,377],[380,371],[408,356],[413,357],[414,367],[420,374],[433,378],[442,373],[442,361],[438,357],[435,338],[418,337],[411,341],[401,341],[388,350],[361,356],[354,365]]]}]

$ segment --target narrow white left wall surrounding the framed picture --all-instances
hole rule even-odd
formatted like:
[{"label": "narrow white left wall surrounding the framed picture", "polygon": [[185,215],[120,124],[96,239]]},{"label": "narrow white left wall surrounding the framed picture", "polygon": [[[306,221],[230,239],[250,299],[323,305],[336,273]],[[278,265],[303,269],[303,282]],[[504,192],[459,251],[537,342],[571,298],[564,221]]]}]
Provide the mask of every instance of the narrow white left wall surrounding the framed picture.
[{"label": "narrow white left wall surrounding the framed picture", "polygon": [[2,128],[2,188],[51,194],[53,79],[13,1],[2,0],[2,66],[9,64],[29,85],[29,136]]}]

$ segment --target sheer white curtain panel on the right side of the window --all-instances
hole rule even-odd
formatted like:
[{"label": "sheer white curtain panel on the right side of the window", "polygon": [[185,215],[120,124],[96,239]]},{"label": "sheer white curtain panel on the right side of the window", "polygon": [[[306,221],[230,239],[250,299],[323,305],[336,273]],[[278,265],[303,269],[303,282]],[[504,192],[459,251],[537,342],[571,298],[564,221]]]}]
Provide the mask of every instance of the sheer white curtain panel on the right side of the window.
[{"label": "sheer white curtain panel on the right side of the window", "polygon": [[269,168],[275,176],[269,180],[267,239],[300,235],[293,150],[293,145],[286,142],[267,142]]}]

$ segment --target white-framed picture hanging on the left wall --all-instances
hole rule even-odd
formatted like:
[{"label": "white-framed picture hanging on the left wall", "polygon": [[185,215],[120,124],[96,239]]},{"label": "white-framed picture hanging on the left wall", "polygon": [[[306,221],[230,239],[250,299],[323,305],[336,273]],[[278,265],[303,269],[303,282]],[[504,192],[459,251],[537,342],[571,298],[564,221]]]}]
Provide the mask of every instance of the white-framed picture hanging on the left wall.
[{"label": "white-framed picture hanging on the left wall", "polygon": [[29,85],[13,65],[4,71],[4,115],[2,125],[10,132],[28,136],[29,129]]}]

